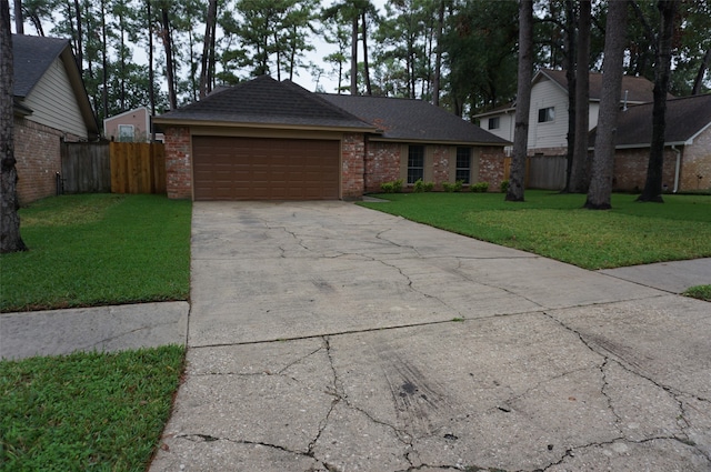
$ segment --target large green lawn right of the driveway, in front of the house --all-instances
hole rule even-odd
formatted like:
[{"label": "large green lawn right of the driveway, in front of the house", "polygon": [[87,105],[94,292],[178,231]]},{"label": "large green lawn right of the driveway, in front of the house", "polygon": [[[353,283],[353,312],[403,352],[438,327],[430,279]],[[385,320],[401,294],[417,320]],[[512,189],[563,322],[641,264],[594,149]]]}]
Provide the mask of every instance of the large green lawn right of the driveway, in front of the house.
[{"label": "large green lawn right of the driveway, in front of the house", "polygon": [[584,269],[611,269],[711,257],[711,197],[664,195],[639,203],[612,195],[612,210],[582,208],[585,195],[525,192],[525,202],[501,193],[397,193],[388,203],[360,203],[482,241],[520,249]]}]

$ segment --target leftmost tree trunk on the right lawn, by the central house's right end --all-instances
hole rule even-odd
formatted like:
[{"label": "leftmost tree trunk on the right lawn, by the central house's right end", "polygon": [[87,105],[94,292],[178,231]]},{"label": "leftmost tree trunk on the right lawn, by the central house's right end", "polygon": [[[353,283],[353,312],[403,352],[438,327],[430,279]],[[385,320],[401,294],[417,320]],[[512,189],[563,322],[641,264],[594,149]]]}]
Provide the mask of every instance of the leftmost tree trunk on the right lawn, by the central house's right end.
[{"label": "leftmost tree trunk on the right lawn, by the central house's right end", "polygon": [[513,158],[509,175],[507,201],[523,201],[525,159],[529,141],[529,110],[531,109],[531,79],[533,74],[533,1],[519,4],[519,72],[513,130]]}]

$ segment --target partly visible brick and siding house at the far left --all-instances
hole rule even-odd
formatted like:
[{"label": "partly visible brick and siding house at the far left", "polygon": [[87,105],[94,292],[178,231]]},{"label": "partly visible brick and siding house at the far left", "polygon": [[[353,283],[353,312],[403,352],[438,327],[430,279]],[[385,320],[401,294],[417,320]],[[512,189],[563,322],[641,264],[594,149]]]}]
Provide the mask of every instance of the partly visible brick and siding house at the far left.
[{"label": "partly visible brick and siding house at the far left", "polygon": [[12,34],[14,157],[21,204],[53,195],[61,143],[92,141],[99,125],[68,40]]}]

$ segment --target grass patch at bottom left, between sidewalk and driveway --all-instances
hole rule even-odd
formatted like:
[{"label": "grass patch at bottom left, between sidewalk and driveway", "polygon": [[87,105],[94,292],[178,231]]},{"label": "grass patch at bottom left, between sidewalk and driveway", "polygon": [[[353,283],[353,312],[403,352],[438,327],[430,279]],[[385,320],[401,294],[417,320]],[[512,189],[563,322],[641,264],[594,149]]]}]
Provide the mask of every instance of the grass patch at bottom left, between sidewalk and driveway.
[{"label": "grass patch at bottom left, between sidewalk and driveway", "polygon": [[0,362],[0,470],[146,470],[183,359],[171,345]]}]

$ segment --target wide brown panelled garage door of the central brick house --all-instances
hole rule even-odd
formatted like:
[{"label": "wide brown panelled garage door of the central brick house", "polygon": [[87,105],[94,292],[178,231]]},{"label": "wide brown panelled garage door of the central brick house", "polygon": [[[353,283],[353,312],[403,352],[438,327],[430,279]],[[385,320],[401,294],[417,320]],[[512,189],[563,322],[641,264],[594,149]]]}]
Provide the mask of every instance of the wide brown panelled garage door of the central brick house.
[{"label": "wide brown panelled garage door of the central brick house", "polygon": [[339,141],[193,137],[196,200],[339,198]]}]

